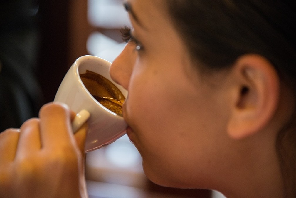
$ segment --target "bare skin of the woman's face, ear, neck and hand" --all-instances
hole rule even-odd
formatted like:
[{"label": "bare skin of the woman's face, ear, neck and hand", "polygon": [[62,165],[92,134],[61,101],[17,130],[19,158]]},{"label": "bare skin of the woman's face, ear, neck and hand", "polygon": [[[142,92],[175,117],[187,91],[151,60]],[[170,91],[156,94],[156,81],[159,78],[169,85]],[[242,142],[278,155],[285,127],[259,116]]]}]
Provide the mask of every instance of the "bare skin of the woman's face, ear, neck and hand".
[{"label": "bare skin of the woman's face, ear, neck and hand", "polygon": [[[227,70],[201,72],[163,1],[128,3],[138,43],[126,45],[110,75],[128,90],[123,117],[147,177],[228,198],[283,197],[275,142],[294,98],[273,65],[245,54]],[[87,196],[86,128],[72,135],[72,118],[47,104],[39,118],[0,134],[0,197]]]}]

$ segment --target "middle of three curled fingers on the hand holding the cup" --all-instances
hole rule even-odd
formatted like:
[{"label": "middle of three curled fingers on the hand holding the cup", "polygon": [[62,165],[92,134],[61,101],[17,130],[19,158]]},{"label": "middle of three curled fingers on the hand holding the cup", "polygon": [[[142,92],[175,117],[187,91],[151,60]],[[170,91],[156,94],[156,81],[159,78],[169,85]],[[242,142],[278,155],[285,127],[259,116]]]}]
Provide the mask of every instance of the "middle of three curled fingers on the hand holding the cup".
[{"label": "middle of three curled fingers on the hand holding the cup", "polygon": [[24,122],[20,127],[16,157],[34,154],[40,148],[39,120],[32,118]]}]

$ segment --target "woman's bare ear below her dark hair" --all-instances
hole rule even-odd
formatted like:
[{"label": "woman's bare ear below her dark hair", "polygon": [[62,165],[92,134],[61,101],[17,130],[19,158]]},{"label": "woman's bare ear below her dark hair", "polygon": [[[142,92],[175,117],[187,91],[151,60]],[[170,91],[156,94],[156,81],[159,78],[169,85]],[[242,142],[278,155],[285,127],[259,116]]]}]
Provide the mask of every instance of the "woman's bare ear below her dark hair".
[{"label": "woman's bare ear below her dark hair", "polygon": [[244,138],[262,129],[279,103],[279,76],[260,55],[243,55],[234,64],[234,100],[228,122],[232,138]]}]

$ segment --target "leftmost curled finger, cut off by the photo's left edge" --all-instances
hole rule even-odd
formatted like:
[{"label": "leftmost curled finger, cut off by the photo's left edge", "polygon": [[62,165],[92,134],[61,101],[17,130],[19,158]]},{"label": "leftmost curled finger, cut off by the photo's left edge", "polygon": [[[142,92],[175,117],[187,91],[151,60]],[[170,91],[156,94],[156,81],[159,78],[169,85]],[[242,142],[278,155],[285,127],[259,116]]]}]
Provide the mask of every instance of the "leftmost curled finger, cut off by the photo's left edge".
[{"label": "leftmost curled finger, cut off by the photo's left edge", "polygon": [[19,131],[19,129],[7,129],[0,133],[0,164],[14,160]]}]

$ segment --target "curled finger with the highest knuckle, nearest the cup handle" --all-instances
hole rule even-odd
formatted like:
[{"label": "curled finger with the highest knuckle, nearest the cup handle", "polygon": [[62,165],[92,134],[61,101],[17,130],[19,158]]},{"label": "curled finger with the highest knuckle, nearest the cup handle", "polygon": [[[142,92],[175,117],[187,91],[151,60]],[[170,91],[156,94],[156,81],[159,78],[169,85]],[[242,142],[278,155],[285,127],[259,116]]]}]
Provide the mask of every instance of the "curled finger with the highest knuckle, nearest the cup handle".
[{"label": "curled finger with the highest knuckle, nearest the cup handle", "polygon": [[39,112],[42,146],[60,147],[73,144],[70,110],[58,103],[44,105]]}]

